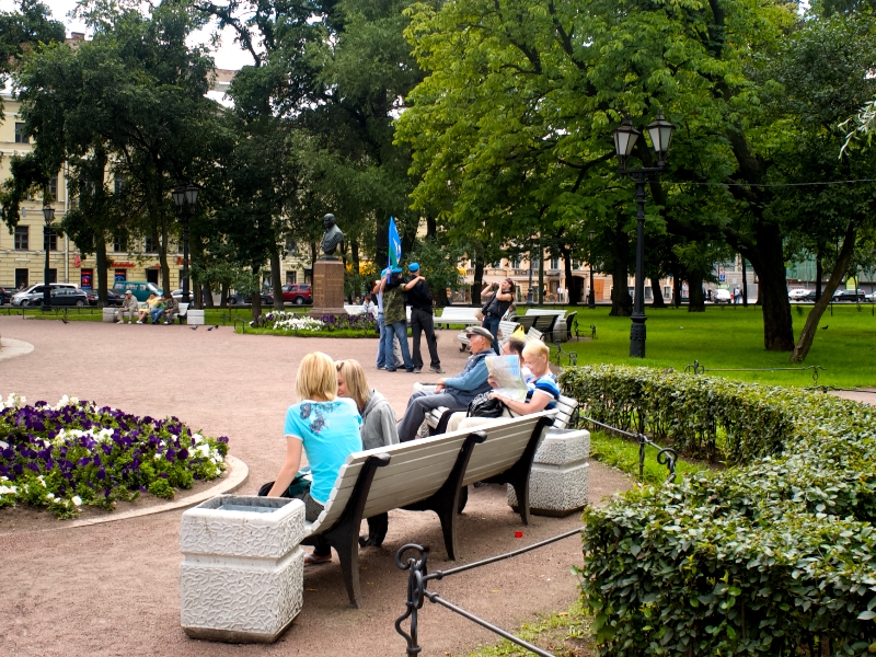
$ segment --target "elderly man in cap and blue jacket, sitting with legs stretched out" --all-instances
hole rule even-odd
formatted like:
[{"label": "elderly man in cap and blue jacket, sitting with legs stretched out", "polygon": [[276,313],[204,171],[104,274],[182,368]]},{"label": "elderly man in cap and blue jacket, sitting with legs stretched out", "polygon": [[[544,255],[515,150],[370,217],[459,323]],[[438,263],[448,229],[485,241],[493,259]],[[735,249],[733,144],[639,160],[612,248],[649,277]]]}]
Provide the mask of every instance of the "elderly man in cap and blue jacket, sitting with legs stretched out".
[{"label": "elderly man in cap and blue jacket, sitting with legs stretched out", "polygon": [[438,379],[435,392],[417,391],[407,401],[407,410],[399,425],[399,440],[405,442],[417,436],[417,429],[426,418],[426,413],[439,406],[461,411],[468,408],[469,402],[482,392],[492,390],[487,378],[484,359],[493,355],[493,334],[483,326],[472,326],[465,331],[469,335],[472,355],[465,367],[457,377]]}]

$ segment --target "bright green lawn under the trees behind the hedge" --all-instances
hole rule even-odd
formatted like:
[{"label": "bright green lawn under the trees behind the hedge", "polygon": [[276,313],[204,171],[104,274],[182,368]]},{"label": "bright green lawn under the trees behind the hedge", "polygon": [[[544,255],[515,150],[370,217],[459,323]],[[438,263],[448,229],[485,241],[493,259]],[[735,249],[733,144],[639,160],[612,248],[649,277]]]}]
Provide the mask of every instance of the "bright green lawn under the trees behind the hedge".
[{"label": "bright green lawn under the trees behind the hedge", "polygon": [[[821,319],[812,348],[804,366],[820,366],[818,382],[837,388],[876,385],[876,318],[869,304],[858,312],[854,304],[835,304]],[[647,321],[647,358],[630,358],[630,318],[610,318],[608,308],[569,308],[578,312],[581,335],[589,335],[596,324],[592,342],[563,343],[563,351],[575,351],[578,365],[624,364],[647,367],[684,367],[695,360],[706,373],[759,383],[808,387],[811,370],[770,372],[711,371],[711,368],[798,368],[788,361],[789,354],[763,348],[763,315],[754,306],[708,307],[706,312],[685,309],[655,310],[645,308]],[[793,306],[795,337],[803,328],[811,306]],[[552,345],[553,347],[553,345]],[[555,349],[552,349],[555,353]],[[563,365],[568,359],[563,357]]]}]

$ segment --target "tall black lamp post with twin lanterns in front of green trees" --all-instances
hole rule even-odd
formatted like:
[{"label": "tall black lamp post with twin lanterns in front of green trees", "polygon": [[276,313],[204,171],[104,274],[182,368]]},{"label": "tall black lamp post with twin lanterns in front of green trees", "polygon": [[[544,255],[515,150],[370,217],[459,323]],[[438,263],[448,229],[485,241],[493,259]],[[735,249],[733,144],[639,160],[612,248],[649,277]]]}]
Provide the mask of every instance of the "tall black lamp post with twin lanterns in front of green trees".
[{"label": "tall black lamp post with twin lanterns in front of green trees", "polygon": [[657,166],[642,169],[626,169],[626,162],[633,154],[636,140],[642,135],[633,127],[630,119],[624,120],[614,130],[614,152],[618,154],[620,172],[629,175],[636,183],[636,205],[638,206],[638,222],[636,227],[636,285],[633,306],[633,321],[630,327],[630,356],[633,358],[645,357],[645,183],[650,177],[659,175],[666,169],[666,159],[669,154],[669,142],[672,140],[675,126],[664,117],[662,112],[657,113],[657,118],[648,124],[654,152],[657,157]]}]

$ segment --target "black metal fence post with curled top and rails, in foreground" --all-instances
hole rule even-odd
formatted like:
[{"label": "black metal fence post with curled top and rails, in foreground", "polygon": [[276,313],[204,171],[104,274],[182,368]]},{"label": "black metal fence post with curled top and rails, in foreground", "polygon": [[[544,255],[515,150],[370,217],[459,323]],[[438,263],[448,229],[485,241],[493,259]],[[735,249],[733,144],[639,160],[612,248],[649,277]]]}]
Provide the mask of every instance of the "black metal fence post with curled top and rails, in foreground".
[{"label": "black metal fence post with curled top and rails, in foreground", "polygon": [[[499,636],[507,638],[508,641],[517,644],[518,646],[521,646],[527,650],[530,650],[535,655],[539,655],[540,657],[554,657],[551,653],[542,650],[538,646],[533,646],[532,644],[523,641],[522,638],[515,636],[510,632],[506,632],[502,627],[497,627],[493,623],[485,621],[484,619],[473,614],[472,612],[462,609],[461,607],[453,604],[452,602],[445,600],[443,598],[441,598],[440,595],[436,593],[435,591],[428,590],[426,587],[428,583],[431,580],[440,580],[443,579],[445,577],[450,577],[451,575],[459,575],[460,573],[464,573],[465,570],[471,570],[472,568],[480,568],[481,566],[494,564],[496,562],[500,562],[506,558],[511,558],[514,556],[518,556],[519,554],[523,554],[532,550],[538,550],[539,548],[544,548],[545,545],[550,545],[551,543],[562,541],[563,539],[567,539],[574,535],[580,535],[580,532],[581,532],[580,528],[572,529],[560,535],[545,539],[544,541],[539,541],[538,543],[533,543],[532,545],[527,545],[526,548],[521,548],[519,550],[512,550],[511,552],[497,554],[496,556],[483,558],[481,561],[472,562],[470,564],[463,564],[461,566],[456,566],[447,570],[436,570],[435,573],[429,573],[426,564],[428,548],[424,548],[423,545],[418,545],[416,543],[407,543],[406,545],[402,545],[399,549],[399,552],[395,554],[395,565],[399,566],[399,568],[402,570],[408,570],[407,601],[405,602],[406,611],[395,621],[395,631],[402,636],[404,636],[405,641],[407,641],[408,657],[414,657],[415,655],[419,655],[419,653],[423,650],[423,647],[419,645],[419,638],[417,635],[418,631],[417,613],[419,612],[420,609],[423,609],[423,603],[426,600],[435,604],[440,604],[441,607],[449,609],[453,613],[458,613],[461,616],[469,619],[473,623],[477,623],[482,627],[486,627],[491,632],[494,632]],[[404,555],[406,552],[415,552],[417,556],[408,556],[405,560]],[[410,633],[402,630],[402,623],[408,618],[411,619]]]}]

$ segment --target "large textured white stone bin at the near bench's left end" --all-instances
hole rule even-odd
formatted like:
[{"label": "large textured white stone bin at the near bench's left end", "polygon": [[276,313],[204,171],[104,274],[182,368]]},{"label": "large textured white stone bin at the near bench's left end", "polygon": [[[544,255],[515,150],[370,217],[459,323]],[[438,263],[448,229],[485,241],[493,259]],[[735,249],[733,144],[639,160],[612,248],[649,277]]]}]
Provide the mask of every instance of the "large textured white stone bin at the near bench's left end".
[{"label": "large textured white stone bin at the near bench's left end", "polygon": [[301,611],[304,504],[220,495],[183,514],[181,622],[193,638],[272,643]]}]

